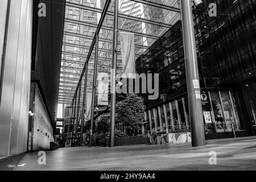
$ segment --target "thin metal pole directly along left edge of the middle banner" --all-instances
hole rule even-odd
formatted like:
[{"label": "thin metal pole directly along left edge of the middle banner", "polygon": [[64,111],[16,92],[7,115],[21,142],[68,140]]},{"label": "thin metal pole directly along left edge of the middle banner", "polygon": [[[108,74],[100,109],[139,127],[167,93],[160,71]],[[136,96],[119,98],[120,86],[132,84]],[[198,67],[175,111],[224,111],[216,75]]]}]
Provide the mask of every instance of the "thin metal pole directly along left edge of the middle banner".
[{"label": "thin metal pole directly along left edge of the middle banner", "polygon": [[95,44],[95,60],[94,60],[94,73],[93,73],[93,91],[92,91],[92,110],[90,114],[90,142],[89,147],[92,147],[92,134],[93,134],[93,117],[94,117],[94,103],[96,93],[96,79],[97,79],[97,62],[98,62],[98,35],[96,35]]}]

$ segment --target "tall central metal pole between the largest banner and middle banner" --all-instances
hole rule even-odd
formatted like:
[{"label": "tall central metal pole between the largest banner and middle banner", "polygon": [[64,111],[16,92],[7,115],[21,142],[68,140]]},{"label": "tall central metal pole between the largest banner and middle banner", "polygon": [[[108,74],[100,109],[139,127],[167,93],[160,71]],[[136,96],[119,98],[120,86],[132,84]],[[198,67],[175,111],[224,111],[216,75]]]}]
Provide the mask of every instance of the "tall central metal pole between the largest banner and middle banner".
[{"label": "tall central metal pole between the largest banner and middle banner", "polygon": [[118,0],[114,5],[114,36],[113,36],[113,63],[112,63],[112,93],[110,109],[110,146],[115,146],[115,76],[117,75],[117,39],[118,39]]}]

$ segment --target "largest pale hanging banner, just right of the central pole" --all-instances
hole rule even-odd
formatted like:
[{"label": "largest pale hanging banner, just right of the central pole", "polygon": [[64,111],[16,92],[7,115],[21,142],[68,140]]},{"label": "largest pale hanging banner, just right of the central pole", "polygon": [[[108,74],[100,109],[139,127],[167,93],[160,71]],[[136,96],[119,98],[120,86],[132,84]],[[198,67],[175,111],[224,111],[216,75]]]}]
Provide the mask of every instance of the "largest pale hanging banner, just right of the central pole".
[{"label": "largest pale hanging banner, just right of the central pole", "polygon": [[135,78],[135,44],[134,34],[120,32],[123,74]]}]

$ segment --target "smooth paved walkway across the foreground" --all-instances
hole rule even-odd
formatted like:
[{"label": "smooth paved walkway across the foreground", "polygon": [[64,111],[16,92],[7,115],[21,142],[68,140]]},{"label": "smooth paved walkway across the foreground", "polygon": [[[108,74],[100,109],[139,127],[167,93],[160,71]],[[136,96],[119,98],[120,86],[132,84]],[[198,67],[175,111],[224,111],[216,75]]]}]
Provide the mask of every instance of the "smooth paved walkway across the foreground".
[{"label": "smooth paved walkway across the foreground", "polygon": [[[217,165],[209,164],[209,152],[217,152]],[[15,170],[256,170],[256,138],[207,141],[161,146],[76,147],[46,152],[39,165],[38,152],[24,156]],[[19,166],[19,167],[18,167]]]}]

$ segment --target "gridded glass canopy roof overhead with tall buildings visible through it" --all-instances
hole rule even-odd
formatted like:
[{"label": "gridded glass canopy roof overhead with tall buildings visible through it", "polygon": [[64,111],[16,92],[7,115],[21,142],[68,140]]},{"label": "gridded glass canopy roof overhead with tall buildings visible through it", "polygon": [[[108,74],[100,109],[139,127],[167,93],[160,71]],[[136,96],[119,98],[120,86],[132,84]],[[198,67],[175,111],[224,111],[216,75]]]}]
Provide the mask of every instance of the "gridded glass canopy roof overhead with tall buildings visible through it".
[{"label": "gridded glass canopy roof overhead with tall buildings visible through it", "polygon": [[[180,20],[178,0],[118,1],[118,30],[134,33],[136,58]],[[59,104],[71,105],[105,2],[106,0],[66,0]],[[97,72],[108,73],[112,68],[113,19],[114,0],[110,3],[99,34]],[[119,43],[118,38],[117,73],[122,71]],[[88,64],[86,93],[92,92],[94,56],[93,50]],[[84,80],[81,90],[84,91]]]}]

